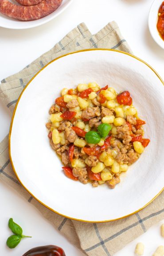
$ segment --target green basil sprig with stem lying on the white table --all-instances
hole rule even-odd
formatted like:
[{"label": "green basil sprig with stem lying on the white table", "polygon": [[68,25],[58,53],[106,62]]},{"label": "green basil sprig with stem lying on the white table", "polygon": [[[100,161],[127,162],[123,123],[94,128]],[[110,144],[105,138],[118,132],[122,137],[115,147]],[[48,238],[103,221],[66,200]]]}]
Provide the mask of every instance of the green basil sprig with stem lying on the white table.
[{"label": "green basil sprig with stem lying on the white table", "polygon": [[24,237],[31,237],[31,236],[22,235],[23,233],[22,228],[18,224],[16,224],[12,218],[10,218],[8,221],[8,227],[15,234],[15,235],[9,236],[8,240],[6,241],[6,244],[9,248],[15,248],[20,243],[20,240]]}]

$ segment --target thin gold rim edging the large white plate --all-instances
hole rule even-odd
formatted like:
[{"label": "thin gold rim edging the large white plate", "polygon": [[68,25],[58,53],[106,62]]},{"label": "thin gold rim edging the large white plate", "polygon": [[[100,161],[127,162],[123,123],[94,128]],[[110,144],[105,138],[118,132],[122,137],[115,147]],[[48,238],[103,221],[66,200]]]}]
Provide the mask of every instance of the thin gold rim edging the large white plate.
[{"label": "thin gold rim edging the large white plate", "polygon": [[145,61],[142,61],[140,58],[138,58],[138,57],[136,57],[136,56],[134,56],[134,55],[132,55],[132,54],[130,54],[130,53],[125,53],[125,52],[122,52],[122,51],[119,51],[119,50],[114,50],[114,49],[102,49],[102,48],[97,48],[97,49],[84,49],[84,50],[79,50],[79,51],[75,51],[75,52],[71,52],[71,53],[64,54],[64,55],[62,55],[62,56],[60,56],[60,57],[57,57],[57,58],[55,58],[54,60],[50,61],[49,63],[47,63],[47,65],[45,65],[42,69],[40,69],[40,70],[35,74],[35,76],[31,78],[31,80],[30,80],[30,81],[27,83],[27,85],[24,87],[23,91],[20,93],[20,97],[18,98],[18,101],[16,102],[16,106],[15,106],[14,112],[13,112],[13,114],[12,114],[12,121],[11,121],[11,124],[10,124],[9,139],[8,139],[8,150],[9,150],[10,162],[11,162],[13,171],[14,171],[14,173],[15,173],[15,175],[16,175],[16,178],[18,179],[18,181],[20,182],[20,184],[22,185],[22,187],[25,188],[25,190],[26,190],[34,199],[36,199],[39,203],[41,203],[41,204],[42,204],[43,206],[45,206],[47,209],[49,209],[49,210],[51,210],[51,211],[53,211],[53,212],[55,212],[55,213],[57,213],[57,214],[59,214],[59,215],[65,217],[65,218],[73,219],[73,220],[77,220],[77,221],[82,221],[82,222],[89,222],[89,223],[110,222],[110,221],[114,221],[114,220],[118,220],[118,219],[124,219],[124,218],[126,218],[126,217],[129,217],[129,216],[131,216],[131,215],[137,213],[138,211],[141,211],[142,209],[144,209],[144,207],[148,206],[148,204],[152,203],[152,201],[153,201],[154,199],[156,199],[156,197],[157,197],[158,195],[160,195],[160,193],[162,193],[162,191],[164,191],[164,188],[163,188],[155,197],[153,197],[152,200],[150,200],[148,203],[146,203],[146,204],[145,204],[143,207],[141,207],[140,209],[138,209],[138,210],[136,210],[136,211],[134,211],[134,212],[132,212],[132,213],[130,213],[130,214],[128,214],[128,215],[125,215],[125,216],[122,216],[122,217],[120,217],[120,218],[117,218],[117,219],[107,219],[107,220],[102,220],[102,221],[91,221],[91,220],[84,220],[84,219],[72,218],[72,217],[70,217],[70,216],[66,216],[66,215],[64,215],[64,214],[61,214],[60,212],[55,211],[54,209],[48,207],[46,204],[44,204],[44,203],[41,202],[38,198],[36,198],[35,195],[33,195],[33,194],[27,189],[27,187],[25,187],[25,186],[23,185],[23,183],[21,182],[19,176],[18,176],[17,173],[16,173],[16,169],[15,169],[14,164],[13,164],[13,161],[12,161],[11,146],[10,146],[10,144],[11,144],[12,125],[13,125],[14,117],[15,117],[15,114],[16,114],[16,109],[17,109],[18,103],[19,103],[19,101],[20,101],[20,98],[21,98],[23,92],[25,91],[25,89],[27,89],[27,86],[31,83],[31,81],[32,81],[43,69],[45,69],[48,65],[50,65],[52,62],[54,62],[54,61],[56,61],[56,60],[58,60],[58,59],[60,59],[60,58],[62,58],[62,57],[65,57],[65,56],[70,55],[70,54],[80,53],[80,52],[100,51],[100,50],[102,50],[102,51],[113,51],[113,52],[123,53],[123,54],[129,55],[130,57],[133,57],[134,59],[136,59],[136,60],[138,60],[138,61],[141,61],[142,63],[144,63],[145,65],[147,65],[147,66],[156,74],[156,76],[160,79],[160,81],[161,81],[162,84],[164,85],[164,81],[162,80],[162,78],[160,77],[160,75],[159,75],[150,65],[148,65],[148,63],[146,63]]}]

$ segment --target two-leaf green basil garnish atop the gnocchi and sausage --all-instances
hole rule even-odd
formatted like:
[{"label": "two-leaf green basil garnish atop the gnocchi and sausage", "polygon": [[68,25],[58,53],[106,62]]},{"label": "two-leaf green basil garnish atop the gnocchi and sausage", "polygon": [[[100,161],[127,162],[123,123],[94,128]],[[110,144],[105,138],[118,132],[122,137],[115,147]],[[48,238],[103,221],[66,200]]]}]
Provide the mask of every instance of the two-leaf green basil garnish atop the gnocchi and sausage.
[{"label": "two-leaf green basil garnish atop the gnocchi and sausage", "polygon": [[112,129],[112,126],[109,124],[101,124],[98,126],[97,131],[89,131],[86,133],[85,139],[90,144],[98,144],[101,138],[105,138],[109,131]]}]

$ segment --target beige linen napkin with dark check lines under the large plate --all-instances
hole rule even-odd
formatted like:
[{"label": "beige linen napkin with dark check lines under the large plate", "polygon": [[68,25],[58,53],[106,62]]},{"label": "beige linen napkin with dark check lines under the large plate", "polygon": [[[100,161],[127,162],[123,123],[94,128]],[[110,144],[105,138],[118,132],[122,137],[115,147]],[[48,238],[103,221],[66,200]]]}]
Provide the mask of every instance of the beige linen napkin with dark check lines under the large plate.
[{"label": "beige linen napkin with dark check lines under the large plate", "polygon": [[[114,21],[95,35],[91,35],[84,23],[79,24],[50,51],[19,73],[5,78],[0,85],[0,99],[12,113],[22,89],[44,65],[65,53],[91,48],[110,48],[132,53]],[[140,212],[109,223],[84,223],[55,214],[29,195],[16,179],[8,156],[8,136],[0,143],[0,180],[23,195],[70,243],[88,256],[112,256],[164,218],[164,192]]]}]

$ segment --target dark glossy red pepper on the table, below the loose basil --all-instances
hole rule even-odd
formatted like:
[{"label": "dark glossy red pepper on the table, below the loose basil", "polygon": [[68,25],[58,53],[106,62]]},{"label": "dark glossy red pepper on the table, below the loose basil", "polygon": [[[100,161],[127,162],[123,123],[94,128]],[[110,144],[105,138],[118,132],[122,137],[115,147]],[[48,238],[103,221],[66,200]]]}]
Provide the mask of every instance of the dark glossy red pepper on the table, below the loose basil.
[{"label": "dark glossy red pepper on the table, below the loose basil", "polygon": [[23,256],[66,256],[62,248],[56,245],[45,245],[32,248]]}]

